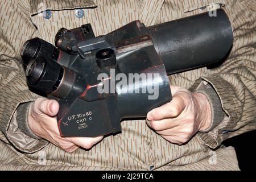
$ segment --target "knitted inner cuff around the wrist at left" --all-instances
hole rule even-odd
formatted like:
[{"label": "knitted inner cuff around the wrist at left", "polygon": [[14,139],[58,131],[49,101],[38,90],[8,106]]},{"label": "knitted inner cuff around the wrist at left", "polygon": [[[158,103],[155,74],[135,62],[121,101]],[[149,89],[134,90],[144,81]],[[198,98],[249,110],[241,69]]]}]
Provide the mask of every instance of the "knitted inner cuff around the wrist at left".
[{"label": "knitted inner cuff around the wrist at left", "polygon": [[28,126],[28,110],[30,109],[30,106],[33,102],[26,102],[23,104],[20,104],[17,108],[17,117],[16,121],[18,122],[19,129],[26,135],[28,135],[31,138],[34,139],[41,139],[38,136],[36,136],[30,129],[30,126]]}]

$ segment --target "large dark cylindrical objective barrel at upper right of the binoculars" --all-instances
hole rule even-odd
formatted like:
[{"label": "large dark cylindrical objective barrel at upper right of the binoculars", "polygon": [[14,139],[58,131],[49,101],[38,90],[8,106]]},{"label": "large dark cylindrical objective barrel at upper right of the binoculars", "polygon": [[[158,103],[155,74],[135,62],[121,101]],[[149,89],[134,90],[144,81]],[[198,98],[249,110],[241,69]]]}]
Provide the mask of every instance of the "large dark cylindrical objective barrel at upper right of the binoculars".
[{"label": "large dark cylindrical objective barrel at upper right of the binoculars", "polygon": [[216,15],[203,13],[147,27],[168,74],[225,57],[233,43],[233,31],[224,10],[216,10]]}]

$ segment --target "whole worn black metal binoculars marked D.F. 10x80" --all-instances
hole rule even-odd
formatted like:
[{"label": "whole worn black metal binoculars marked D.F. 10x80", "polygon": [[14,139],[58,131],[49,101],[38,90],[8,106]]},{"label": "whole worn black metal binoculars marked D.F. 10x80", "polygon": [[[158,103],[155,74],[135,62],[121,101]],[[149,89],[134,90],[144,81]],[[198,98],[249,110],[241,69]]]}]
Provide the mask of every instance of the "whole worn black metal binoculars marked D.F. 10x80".
[{"label": "whole worn black metal binoculars marked D.F. 10x80", "polygon": [[[57,48],[34,38],[21,55],[28,85],[60,104],[61,136],[96,137],[121,131],[122,118],[146,117],[169,102],[167,74],[215,63],[232,43],[228,16],[219,9],[217,16],[203,13],[151,27],[136,20],[98,37],[90,24],[61,28]],[[126,80],[132,73],[141,77]],[[158,92],[155,98],[142,92],[149,88]]]}]

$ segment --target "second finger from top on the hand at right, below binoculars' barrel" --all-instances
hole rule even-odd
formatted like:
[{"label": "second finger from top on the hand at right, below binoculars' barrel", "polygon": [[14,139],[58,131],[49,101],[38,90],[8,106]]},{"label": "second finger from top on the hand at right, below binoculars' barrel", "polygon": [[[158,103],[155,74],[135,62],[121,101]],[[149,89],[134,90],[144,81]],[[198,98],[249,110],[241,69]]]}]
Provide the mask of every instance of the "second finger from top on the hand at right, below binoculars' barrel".
[{"label": "second finger from top on the hand at right, below binoculars' barrel", "polygon": [[162,130],[167,130],[167,129],[172,129],[174,127],[177,127],[181,123],[180,118],[174,118],[174,119],[162,119],[160,121],[148,121],[147,125],[154,129],[155,131],[162,131]]}]

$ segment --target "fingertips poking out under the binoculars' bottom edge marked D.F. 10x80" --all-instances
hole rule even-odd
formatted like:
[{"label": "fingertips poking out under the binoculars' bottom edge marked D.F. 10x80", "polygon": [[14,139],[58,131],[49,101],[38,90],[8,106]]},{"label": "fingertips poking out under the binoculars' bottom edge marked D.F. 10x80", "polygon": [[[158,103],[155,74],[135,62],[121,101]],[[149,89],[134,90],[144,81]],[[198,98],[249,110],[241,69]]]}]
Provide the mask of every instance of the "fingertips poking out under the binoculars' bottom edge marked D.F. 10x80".
[{"label": "fingertips poking out under the binoculars' bottom edge marked D.F. 10x80", "polygon": [[77,146],[80,146],[82,148],[92,148],[92,146],[98,142],[100,142],[100,140],[103,137],[93,137],[93,138],[87,138],[87,137],[75,137],[75,138],[71,138],[71,141],[76,144]]}]

